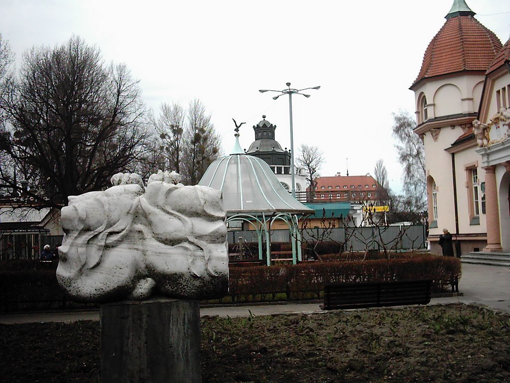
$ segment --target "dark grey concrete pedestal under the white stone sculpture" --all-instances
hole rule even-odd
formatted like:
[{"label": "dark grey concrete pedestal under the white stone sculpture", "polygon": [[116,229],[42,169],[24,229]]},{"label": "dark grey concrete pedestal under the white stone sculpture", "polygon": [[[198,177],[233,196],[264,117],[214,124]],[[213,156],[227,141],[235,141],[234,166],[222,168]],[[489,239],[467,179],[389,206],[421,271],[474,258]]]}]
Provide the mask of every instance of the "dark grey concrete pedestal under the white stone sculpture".
[{"label": "dark grey concrete pedestal under the white stone sculpture", "polygon": [[199,383],[199,301],[156,298],[100,306],[104,383]]}]

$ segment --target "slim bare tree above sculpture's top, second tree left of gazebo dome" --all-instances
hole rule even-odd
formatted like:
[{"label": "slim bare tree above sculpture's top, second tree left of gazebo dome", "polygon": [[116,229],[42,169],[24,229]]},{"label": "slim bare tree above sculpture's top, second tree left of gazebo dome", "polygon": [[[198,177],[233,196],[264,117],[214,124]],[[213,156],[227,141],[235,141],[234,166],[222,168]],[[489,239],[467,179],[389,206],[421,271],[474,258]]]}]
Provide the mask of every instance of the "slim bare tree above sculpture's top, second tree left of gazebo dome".
[{"label": "slim bare tree above sculpture's top, second tree left of gazebo dome", "polygon": [[160,153],[166,157],[169,169],[181,173],[186,111],[179,103],[163,103],[159,118],[153,119],[152,123],[163,144],[164,150]]}]

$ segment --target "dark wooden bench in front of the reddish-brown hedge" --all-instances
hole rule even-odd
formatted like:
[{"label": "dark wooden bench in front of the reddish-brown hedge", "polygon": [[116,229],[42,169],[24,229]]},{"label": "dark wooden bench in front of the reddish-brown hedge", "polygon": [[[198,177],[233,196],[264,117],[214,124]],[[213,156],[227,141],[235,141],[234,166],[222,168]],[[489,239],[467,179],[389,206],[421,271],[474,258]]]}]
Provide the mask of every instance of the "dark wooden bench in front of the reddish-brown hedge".
[{"label": "dark wooden bench in front of the reddish-brown hedge", "polygon": [[323,310],[403,306],[430,302],[432,281],[328,283]]}]

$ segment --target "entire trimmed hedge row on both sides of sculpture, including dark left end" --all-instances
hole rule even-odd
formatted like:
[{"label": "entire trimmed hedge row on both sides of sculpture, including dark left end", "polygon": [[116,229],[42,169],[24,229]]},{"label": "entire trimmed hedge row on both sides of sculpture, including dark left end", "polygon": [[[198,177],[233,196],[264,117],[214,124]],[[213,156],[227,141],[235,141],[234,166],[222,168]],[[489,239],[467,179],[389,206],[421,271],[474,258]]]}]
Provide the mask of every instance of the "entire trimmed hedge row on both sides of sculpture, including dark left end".
[{"label": "entire trimmed hedge row on both sides of sculpture, including dark left end", "polygon": [[[438,293],[461,277],[461,261],[454,257],[397,253],[388,260],[381,254],[371,254],[375,259],[362,261],[363,253],[344,253],[326,258],[330,260],[298,265],[233,267],[230,269],[231,300],[319,299],[324,285],[329,282],[412,279],[431,279],[432,292]],[[0,312],[95,306],[71,301],[57,282],[56,262],[19,262],[12,264],[11,270],[0,269]]]}]

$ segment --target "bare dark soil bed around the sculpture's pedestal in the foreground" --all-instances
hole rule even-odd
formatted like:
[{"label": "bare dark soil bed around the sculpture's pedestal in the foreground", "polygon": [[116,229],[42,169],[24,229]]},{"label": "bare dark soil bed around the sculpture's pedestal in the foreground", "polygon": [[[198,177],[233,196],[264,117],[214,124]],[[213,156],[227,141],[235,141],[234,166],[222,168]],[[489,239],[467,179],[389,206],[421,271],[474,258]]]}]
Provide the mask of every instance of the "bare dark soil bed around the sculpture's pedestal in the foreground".
[{"label": "bare dark soil bed around the sculpture's pedestal in the foreground", "polygon": [[[510,315],[453,304],[201,321],[203,382],[509,382]],[[99,323],[0,325],[0,381],[98,382]]]}]

